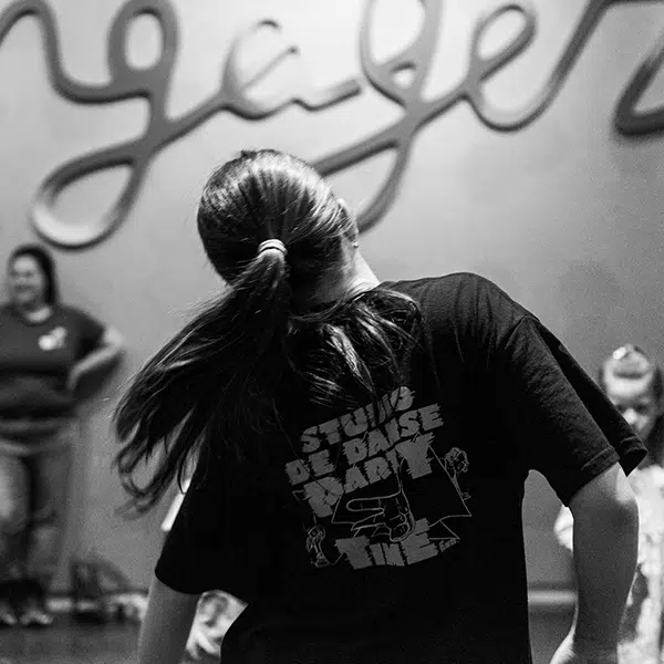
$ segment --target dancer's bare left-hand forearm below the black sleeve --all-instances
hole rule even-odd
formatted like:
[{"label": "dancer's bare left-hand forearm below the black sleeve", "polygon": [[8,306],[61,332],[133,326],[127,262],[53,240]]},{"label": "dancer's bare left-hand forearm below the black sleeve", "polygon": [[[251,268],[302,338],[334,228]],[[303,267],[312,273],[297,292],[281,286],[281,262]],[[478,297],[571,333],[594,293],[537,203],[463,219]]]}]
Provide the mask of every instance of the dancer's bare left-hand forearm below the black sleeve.
[{"label": "dancer's bare left-hand forearm below the black sleeve", "polygon": [[138,664],[179,664],[199,596],[177,592],[153,578],[138,640]]}]

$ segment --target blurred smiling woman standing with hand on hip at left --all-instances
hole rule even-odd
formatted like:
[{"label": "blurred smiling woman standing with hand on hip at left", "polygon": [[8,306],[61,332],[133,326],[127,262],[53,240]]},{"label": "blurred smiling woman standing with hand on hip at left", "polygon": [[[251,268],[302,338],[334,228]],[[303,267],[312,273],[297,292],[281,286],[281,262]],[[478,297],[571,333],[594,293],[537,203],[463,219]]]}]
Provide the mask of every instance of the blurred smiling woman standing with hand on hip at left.
[{"label": "blurred smiling woman standing with hand on hip at left", "polygon": [[118,359],[117,331],[59,301],[51,256],[23,245],[0,307],[0,626],[48,626],[79,436],[76,386]]}]

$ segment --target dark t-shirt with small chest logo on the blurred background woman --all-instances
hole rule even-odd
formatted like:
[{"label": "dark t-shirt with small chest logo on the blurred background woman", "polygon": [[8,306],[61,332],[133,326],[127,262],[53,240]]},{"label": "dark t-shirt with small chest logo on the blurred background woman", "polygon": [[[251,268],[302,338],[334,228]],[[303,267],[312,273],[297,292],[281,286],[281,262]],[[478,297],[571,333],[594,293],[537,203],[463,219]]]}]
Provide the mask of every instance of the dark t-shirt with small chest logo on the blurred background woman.
[{"label": "dark t-shirt with small chest logo on the blurred background woman", "polygon": [[72,366],[94,350],[104,325],[73,307],[56,304],[41,322],[0,307],[0,416],[53,417],[75,405],[66,388]]}]

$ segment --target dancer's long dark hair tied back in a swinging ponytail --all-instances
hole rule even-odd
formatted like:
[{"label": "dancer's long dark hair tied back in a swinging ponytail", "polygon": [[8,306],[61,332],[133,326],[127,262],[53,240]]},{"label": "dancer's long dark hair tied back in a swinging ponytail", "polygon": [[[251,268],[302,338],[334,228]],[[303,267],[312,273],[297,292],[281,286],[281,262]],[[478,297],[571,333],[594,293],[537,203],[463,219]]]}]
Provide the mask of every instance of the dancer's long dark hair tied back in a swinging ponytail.
[{"label": "dancer's long dark hair tied back in a swinging ponytail", "polygon": [[[124,443],[115,463],[138,512],[181,481],[193,457],[252,459],[288,437],[287,396],[332,408],[377,403],[417,336],[417,307],[387,289],[305,305],[344,269],[356,229],[301,159],[258,151],[222,165],[204,188],[198,230],[228,289],[147,362],[115,413]],[[135,473],[158,452],[138,486]]]}]

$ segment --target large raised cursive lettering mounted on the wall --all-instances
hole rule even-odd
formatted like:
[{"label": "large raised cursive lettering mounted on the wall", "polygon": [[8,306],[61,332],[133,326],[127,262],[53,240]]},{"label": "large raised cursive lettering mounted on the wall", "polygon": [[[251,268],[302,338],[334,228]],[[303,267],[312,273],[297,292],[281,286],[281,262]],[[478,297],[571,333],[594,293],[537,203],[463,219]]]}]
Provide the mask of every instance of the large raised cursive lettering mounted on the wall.
[{"label": "large raised cursive lettering mounted on the wall", "polygon": [[[532,42],[537,24],[532,4],[527,0],[507,2],[483,15],[473,30],[466,76],[453,90],[437,98],[425,101],[422,91],[436,52],[445,0],[419,1],[425,12],[419,34],[413,43],[388,60],[377,62],[370,46],[376,0],[366,0],[360,29],[362,72],[369,84],[403,108],[402,116],[391,126],[315,163],[323,175],[331,175],[385,151],[395,151],[396,159],[385,183],[360,215],[361,230],[375,225],[390,208],[405,172],[414,138],[423,126],[459,102],[467,102],[476,116],[492,129],[513,132],[527,126],[541,115],[557,96],[594,29],[611,6],[661,0],[588,0],[579,24],[542,89],[527,104],[511,110],[492,105],[485,95],[484,85],[491,75],[509,64]],[[483,56],[480,46],[487,31],[507,12],[517,12],[523,19],[519,32],[490,58]],[[156,63],[147,69],[136,69],[127,62],[125,44],[132,22],[145,14],[154,17],[159,23],[163,46]],[[84,104],[143,97],[147,101],[149,110],[148,123],[142,136],[69,162],[56,168],[42,183],[33,206],[33,224],[42,237],[61,247],[85,247],[112,232],[131,211],[141,191],[147,167],[156,153],[216,113],[226,111],[249,121],[258,121],[280,112],[290,104],[299,104],[309,111],[320,111],[362,92],[363,82],[350,77],[329,89],[312,89],[301,83],[300,90],[283,90],[268,98],[252,100],[248,95],[251,85],[269,76],[283,59],[299,54],[298,46],[289,44],[272,53],[255,71],[241,73],[238,54],[247,39],[266,28],[280,30],[278,22],[262,20],[236,37],[225,62],[219,90],[185,115],[168,118],[165,104],[178,46],[177,19],[168,0],[129,0],[120,10],[108,34],[111,82],[105,85],[83,84],[66,75],[62,66],[55,20],[52,10],[43,0],[17,0],[10,4],[0,14],[0,43],[13,25],[28,15],[35,15],[41,20],[49,75],[59,94]],[[644,113],[637,113],[635,110],[663,60],[664,37],[640,65],[619,102],[615,113],[615,127],[619,132],[630,135],[664,131],[664,106]],[[412,74],[407,82],[400,76],[404,71]],[[65,187],[92,173],[117,166],[128,166],[131,176],[110,211],[85,225],[71,224],[56,217],[53,211],[54,201]]]}]

